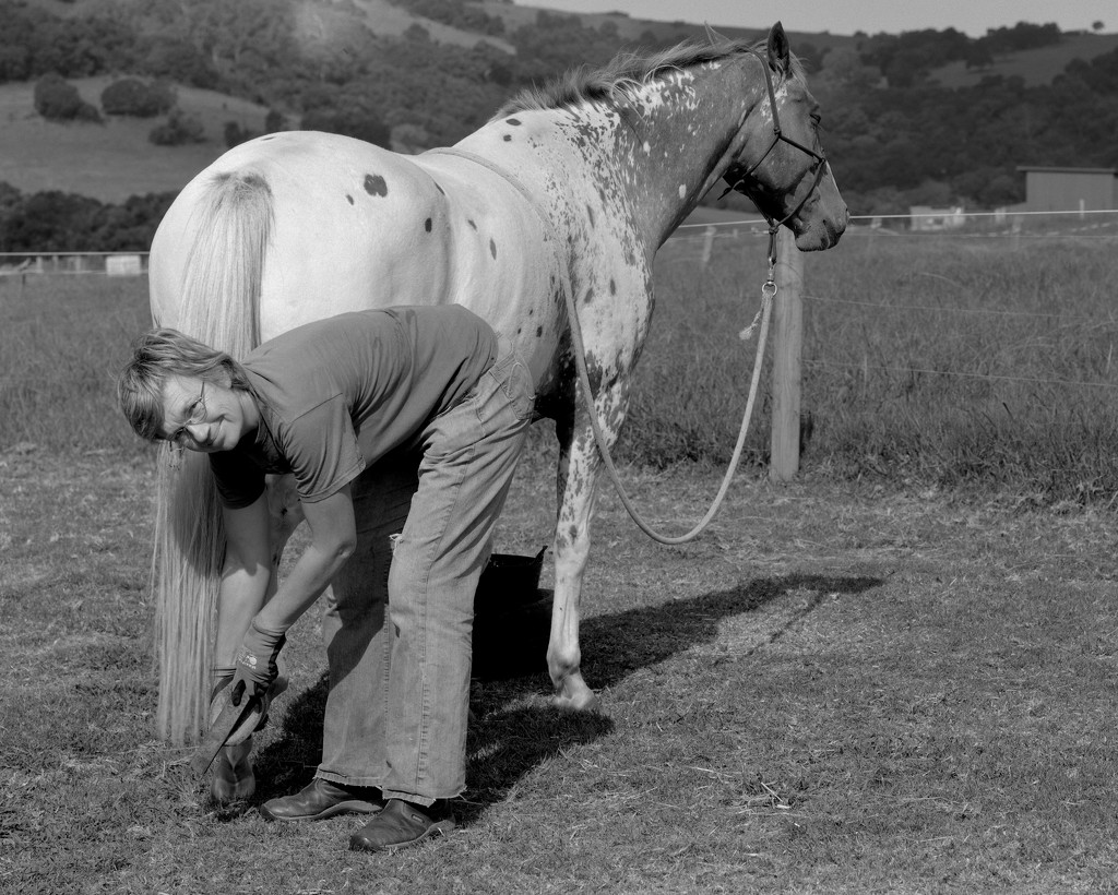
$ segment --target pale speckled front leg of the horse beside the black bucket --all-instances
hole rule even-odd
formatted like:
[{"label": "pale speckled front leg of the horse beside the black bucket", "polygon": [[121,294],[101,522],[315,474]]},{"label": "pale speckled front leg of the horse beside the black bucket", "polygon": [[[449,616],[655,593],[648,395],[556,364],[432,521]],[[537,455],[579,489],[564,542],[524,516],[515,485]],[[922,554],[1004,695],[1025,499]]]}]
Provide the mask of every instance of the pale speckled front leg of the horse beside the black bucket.
[{"label": "pale speckled front leg of the horse beside the black bucket", "polygon": [[[580,390],[579,390],[580,391]],[[582,407],[581,396],[578,407]],[[598,392],[596,411],[607,448],[613,448],[625,417],[626,389],[614,383]],[[555,601],[548,640],[548,672],[556,691],[556,705],[585,712],[598,707],[598,697],[581,672],[579,646],[582,575],[590,555],[590,520],[597,503],[597,478],[601,455],[585,410],[571,409],[556,421],[559,439],[558,520],[555,542]]]}]

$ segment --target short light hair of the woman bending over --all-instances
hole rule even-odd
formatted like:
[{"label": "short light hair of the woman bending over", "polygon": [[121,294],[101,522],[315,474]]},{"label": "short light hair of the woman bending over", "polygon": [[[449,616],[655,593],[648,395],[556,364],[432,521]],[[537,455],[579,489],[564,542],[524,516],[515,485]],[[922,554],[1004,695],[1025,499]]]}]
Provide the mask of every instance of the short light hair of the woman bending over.
[{"label": "short light hair of the woman bending over", "polygon": [[132,343],[132,360],[116,379],[116,400],[141,438],[155,441],[163,427],[163,387],[168,377],[197,377],[206,382],[250,391],[245,368],[178,330],[161,329]]}]

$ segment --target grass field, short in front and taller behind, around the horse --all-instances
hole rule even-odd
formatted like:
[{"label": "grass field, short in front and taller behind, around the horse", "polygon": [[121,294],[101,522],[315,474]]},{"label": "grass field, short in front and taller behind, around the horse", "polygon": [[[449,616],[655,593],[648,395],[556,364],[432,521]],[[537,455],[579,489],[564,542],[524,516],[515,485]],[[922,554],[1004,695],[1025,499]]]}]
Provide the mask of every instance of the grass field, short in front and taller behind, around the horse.
[{"label": "grass field, short in front and taller behind, around the horse", "polygon": [[[111,401],[144,286],[0,282],[0,889],[1115,892],[1115,492],[1055,484],[1077,444],[1083,480],[1109,480],[1109,391],[1061,383],[1110,381],[1115,253],[1025,247],[859,236],[811,256],[800,477],[767,483],[759,434],[757,465],[683,548],[648,542],[604,489],[582,631],[603,712],[553,713],[541,659],[479,679],[462,830],[387,857],[345,849],[356,821],[254,810],[316,762],[314,612],[285,650],[292,688],[252,804],[208,803],[188,754],[152,739],[153,470]],[[698,463],[665,446],[708,429],[721,444],[740,410],[742,377],[722,364],[731,349],[751,361],[736,333],[762,250],[719,240],[707,268],[694,244],[662,253],[623,474],[664,527],[717,487],[724,445]],[[692,377],[685,401],[672,370]],[[1015,379],[983,390],[948,372]],[[999,402],[1017,422],[992,431],[1012,450],[953,434]],[[958,456],[987,463],[953,476]],[[541,436],[499,551],[549,542],[553,460]],[[540,636],[515,631],[510,655],[536,640],[542,656]]]}]

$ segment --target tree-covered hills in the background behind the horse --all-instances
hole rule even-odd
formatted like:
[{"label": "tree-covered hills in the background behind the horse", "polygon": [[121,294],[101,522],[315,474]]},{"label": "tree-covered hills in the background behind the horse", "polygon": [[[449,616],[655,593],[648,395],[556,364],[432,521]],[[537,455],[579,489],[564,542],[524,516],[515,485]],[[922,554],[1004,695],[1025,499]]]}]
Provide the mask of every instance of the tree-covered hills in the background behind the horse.
[{"label": "tree-covered hills in the background behind the horse", "polygon": [[[362,139],[421,151],[453,144],[529,84],[704,30],[508,0],[0,0],[0,181],[26,196],[57,190],[113,203],[178,191],[226,151],[227,123],[259,133],[267,107],[288,126],[315,113],[315,126],[339,133],[371,122],[379,126]],[[854,213],[1016,202],[1025,163],[1118,166],[1118,35],[1018,22],[978,40],[955,29],[789,37],[823,104],[824,142]],[[1097,63],[1054,84],[1074,59]],[[46,122],[32,85],[48,72],[94,105],[123,74],[195,85],[178,87],[179,105],[206,141],[153,145],[148,134],[161,120]]]}]

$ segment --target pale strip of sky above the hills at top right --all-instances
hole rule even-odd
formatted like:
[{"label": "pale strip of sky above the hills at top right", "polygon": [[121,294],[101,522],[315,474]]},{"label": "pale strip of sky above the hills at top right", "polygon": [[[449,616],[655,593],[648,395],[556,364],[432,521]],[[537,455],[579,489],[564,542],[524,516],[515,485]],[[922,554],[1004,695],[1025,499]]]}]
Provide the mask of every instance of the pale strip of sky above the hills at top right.
[{"label": "pale strip of sky above the hills at top right", "polygon": [[865,31],[900,34],[955,28],[982,37],[987,28],[1018,21],[1055,22],[1061,31],[1118,31],[1115,0],[515,0],[518,6],[563,12],[627,12],[641,19],[707,23],[713,27],[768,28],[780,20],[788,31]]}]

